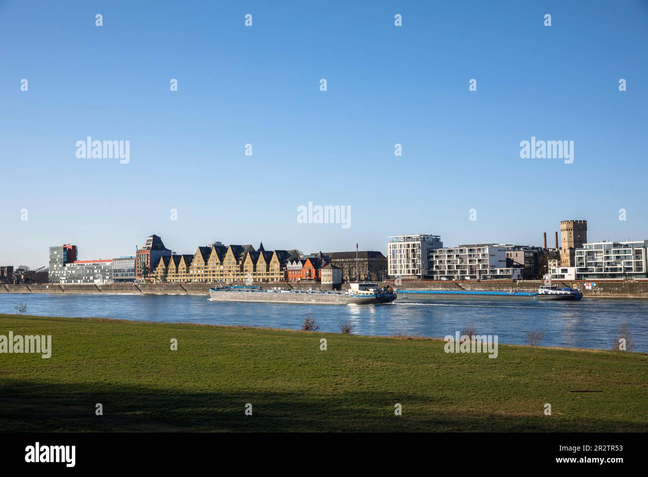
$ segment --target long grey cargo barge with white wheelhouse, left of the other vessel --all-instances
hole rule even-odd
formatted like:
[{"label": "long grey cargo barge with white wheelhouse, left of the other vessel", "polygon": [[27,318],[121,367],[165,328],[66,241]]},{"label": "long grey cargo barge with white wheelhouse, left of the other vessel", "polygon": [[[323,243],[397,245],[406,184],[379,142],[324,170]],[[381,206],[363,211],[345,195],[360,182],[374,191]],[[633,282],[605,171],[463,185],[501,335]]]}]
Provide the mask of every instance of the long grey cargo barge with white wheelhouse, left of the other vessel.
[{"label": "long grey cargo barge with white wheelhouse, left of the other vessel", "polygon": [[211,301],[246,301],[314,305],[380,304],[393,302],[391,287],[375,283],[352,283],[349,291],[270,290],[257,286],[222,286],[209,289]]}]

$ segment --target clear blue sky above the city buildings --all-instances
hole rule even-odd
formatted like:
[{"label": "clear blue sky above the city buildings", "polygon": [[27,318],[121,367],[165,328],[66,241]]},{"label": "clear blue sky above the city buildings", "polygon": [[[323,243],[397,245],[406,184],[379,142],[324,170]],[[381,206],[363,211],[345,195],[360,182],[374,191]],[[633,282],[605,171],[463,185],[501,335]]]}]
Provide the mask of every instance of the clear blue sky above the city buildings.
[{"label": "clear blue sky above the city buildings", "polygon": [[[648,238],[647,51],[643,0],[0,1],[0,264],[153,233],[181,253],[541,245],[564,219]],[[130,164],[76,158],[86,136],[129,140]],[[573,164],[520,158],[531,136],[573,140]],[[308,201],[351,227],[297,223]]]}]

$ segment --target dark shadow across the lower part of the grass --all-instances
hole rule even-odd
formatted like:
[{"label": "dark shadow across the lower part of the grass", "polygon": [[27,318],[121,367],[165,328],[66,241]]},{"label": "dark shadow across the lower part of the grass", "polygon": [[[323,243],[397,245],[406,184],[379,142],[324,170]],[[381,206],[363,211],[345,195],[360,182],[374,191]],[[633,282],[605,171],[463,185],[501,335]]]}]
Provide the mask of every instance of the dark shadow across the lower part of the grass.
[{"label": "dark shadow across the lower part of the grass", "polygon": [[[173,393],[110,384],[0,380],[0,432],[645,432],[643,422],[443,411],[397,393]],[[394,404],[402,404],[402,416]],[[104,414],[95,415],[95,405]],[[244,413],[252,404],[253,415]]]}]

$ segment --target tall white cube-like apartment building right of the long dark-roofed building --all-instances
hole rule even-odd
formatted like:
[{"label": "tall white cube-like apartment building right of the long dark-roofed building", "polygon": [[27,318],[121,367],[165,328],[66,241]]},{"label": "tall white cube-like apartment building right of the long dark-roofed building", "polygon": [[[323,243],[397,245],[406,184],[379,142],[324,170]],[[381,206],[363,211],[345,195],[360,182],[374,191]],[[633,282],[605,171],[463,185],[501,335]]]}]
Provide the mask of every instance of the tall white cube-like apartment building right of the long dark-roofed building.
[{"label": "tall white cube-like apartment building right of the long dark-roofed building", "polygon": [[424,278],[428,273],[426,257],[443,247],[441,236],[417,234],[389,237],[387,269],[389,276]]}]

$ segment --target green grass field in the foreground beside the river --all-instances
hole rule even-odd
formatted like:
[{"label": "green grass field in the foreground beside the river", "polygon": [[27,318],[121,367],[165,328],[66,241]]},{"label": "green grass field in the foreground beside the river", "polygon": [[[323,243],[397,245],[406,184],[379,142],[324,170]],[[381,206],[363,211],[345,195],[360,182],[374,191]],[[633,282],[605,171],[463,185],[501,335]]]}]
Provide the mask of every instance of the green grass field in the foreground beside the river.
[{"label": "green grass field in the foreground beside the river", "polygon": [[0,354],[3,432],[648,430],[648,354],[0,315],[10,330],[52,356]]}]

